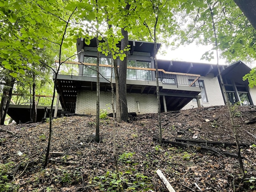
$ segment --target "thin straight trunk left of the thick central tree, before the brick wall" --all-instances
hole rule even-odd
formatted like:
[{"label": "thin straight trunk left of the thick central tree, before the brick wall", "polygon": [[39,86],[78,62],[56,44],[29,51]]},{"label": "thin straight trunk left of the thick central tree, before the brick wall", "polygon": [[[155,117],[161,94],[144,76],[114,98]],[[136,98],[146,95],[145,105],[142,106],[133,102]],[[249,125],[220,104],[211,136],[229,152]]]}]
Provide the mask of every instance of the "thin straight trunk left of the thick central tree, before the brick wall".
[{"label": "thin straight trunk left of the thick central tree, before the brick wall", "polygon": [[[97,47],[99,45],[99,40],[96,38]],[[97,82],[96,82],[96,88],[97,88],[97,98],[96,98],[96,142],[100,142],[100,52],[97,52]]]}]

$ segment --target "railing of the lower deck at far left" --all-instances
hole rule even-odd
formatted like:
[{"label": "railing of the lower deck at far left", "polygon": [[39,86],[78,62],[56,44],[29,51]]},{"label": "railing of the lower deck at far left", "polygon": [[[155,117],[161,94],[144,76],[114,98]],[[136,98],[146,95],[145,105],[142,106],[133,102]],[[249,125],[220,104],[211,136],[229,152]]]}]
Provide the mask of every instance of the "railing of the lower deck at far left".
[{"label": "railing of the lower deck at far left", "polygon": [[[57,96],[55,96],[57,98]],[[12,94],[11,103],[14,105],[32,105],[32,96],[24,94]],[[51,106],[52,96],[51,95],[36,95],[37,106]],[[54,106],[56,105],[56,99],[54,99]],[[59,106],[60,103],[59,103]]]}]

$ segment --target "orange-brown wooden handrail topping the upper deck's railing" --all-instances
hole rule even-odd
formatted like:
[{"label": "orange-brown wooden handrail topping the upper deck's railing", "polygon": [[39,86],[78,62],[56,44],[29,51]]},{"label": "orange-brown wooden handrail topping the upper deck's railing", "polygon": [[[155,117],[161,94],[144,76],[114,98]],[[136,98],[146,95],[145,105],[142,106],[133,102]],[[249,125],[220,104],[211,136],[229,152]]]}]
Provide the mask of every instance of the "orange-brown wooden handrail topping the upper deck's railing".
[{"label": "orange-brown wooden handrail topping the upper deck's railing", "polygon": [[[55,61],[58,63],[58,61]],[[84,63],[84,62],[74,62],[74,61],[63,61],[62,63],[66,64],[77,64],[77,65],[91,65],[91,66],[96,66],[94,63]],[[99,64],[100,67],[111,67],[111,65],[104,65],[104,64]],[[119,67],[119,66],[118,66]],[[140,68],[140,67],[127,67],[128,69],[136,69],[136,70],[147,70],[147,71],[156,71],[156,69],[153,68]],[[163,69],[158,69],[158,71],[161,71],[165,74],[173,74],[173,75],[186,75],[186,76],[195,76],[195,77],[200,77],[198,74],[189,74],[189,73],[178,73],[178,72],[169,72],[165,71]]]}]

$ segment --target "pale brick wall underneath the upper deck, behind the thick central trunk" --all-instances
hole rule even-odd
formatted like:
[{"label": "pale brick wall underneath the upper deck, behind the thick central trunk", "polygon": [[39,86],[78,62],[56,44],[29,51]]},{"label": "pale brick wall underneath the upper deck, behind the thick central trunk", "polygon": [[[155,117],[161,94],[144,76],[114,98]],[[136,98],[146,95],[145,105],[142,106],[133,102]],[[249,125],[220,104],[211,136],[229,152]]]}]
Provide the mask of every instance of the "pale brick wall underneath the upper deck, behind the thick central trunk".
[{"label": "pale brick wall underneath the upper deck, behind the thick central trunk", "polygon": [[[157,113],[156,95],[152,94],[127,94],[128,112],[136,112],[137,114]],[[114,98],[114,106],[116,109],[116,98]],[[140,113],[138,113],[138,104]],[[100,92],[100,109],[106,109],[108,113],[112,113],[112,96],[111,92]],[[106,106],[108,105],[108,106]],[[80,90],[76,98],[77,114],[96,115],[96,91]]]}]

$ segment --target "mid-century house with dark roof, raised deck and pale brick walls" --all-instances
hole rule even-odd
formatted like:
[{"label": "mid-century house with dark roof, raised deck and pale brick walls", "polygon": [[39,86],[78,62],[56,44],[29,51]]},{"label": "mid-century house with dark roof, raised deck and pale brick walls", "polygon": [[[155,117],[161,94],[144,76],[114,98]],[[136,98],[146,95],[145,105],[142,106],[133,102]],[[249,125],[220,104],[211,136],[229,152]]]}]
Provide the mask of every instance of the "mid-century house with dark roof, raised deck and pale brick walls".
[{"label": "mid-century house with dark roof, raised deck and pale brick walls", "polygon": [[[78,60],[82,64],[62,64],[60,74],[57,76],[57,103],[60,101],[62,110],[68,112],[95,115],[96,40],[91,40],[88,46],[83,40],[78,39],[76,45]],[[154,44],[129,41],[129,45],[126,81],[128,112],[157,113]],[[160,48],[160,44],[157,44],[157,48]],[[256,104],[256,88],[249,88],[248,81],[242,80],[242,77],[250,72],[250,68],[241,61],[220,68],[230,102]],[[158,73],[162,112],[225,104],[218,68],[214,64],[158,60]],[[108,106],[112,101],[109,82],[110,56],[100,54],[100,74],[104,76],[100,76],[100,108],[112,112]],[[114,78],[112,82],[115,86]]]}]

